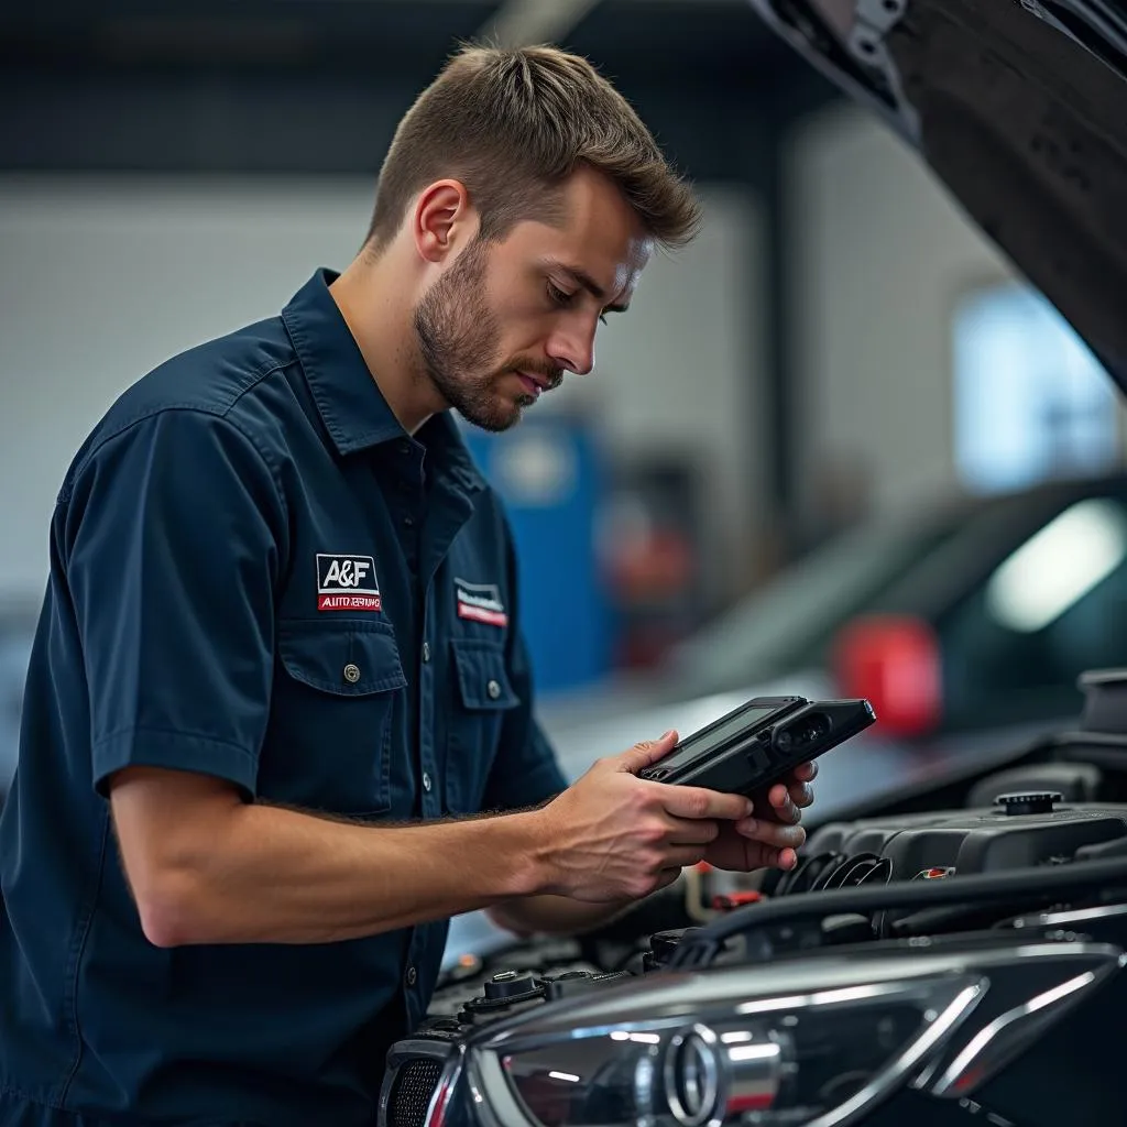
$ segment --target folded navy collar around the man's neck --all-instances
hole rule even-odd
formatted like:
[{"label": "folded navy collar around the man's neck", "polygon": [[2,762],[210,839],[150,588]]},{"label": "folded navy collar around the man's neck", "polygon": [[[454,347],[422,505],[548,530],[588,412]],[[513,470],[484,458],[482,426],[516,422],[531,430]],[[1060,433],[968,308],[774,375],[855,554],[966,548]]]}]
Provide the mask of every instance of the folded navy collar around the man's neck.
[{"label": "folded navy collar around the man's neck", "polygon": [[[339,274],[321,268],[298,291],[282,311],[309,383],[313,402],[332,444],[340,454],[353,454],[394,440],[409,440],[372,379],[329,285]],[[418,440],[429,460],[470,490],[485,487],[458,426],[443,411],[419,428]]]}]

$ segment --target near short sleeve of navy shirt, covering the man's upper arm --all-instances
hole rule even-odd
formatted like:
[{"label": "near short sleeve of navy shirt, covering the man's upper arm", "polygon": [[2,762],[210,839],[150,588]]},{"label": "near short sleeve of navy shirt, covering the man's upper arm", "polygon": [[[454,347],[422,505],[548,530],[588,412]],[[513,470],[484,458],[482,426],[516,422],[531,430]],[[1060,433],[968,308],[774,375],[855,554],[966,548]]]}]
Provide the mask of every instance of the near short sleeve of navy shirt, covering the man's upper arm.
[{"label": "near short sleeve of navy shirt, covering the man's upper arm", "polygon": [[56,520],[98,791],[145,765],[252,796],[286,526],[257,446],[223,417],[161,411],[95,449]]}]

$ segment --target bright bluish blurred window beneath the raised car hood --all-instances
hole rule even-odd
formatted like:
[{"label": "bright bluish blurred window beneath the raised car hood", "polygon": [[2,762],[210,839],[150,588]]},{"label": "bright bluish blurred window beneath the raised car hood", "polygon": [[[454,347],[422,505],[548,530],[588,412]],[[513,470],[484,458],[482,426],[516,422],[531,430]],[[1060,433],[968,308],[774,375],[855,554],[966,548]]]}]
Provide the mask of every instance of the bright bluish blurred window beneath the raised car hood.
[{"label": "bright bluish blurred window beneath the raised car hood", "polygon": [[973,291],[956,310],[952,346],[955,460],[970,491],[1119,463],[1112,381],[1040,294],[1013,283]]}]

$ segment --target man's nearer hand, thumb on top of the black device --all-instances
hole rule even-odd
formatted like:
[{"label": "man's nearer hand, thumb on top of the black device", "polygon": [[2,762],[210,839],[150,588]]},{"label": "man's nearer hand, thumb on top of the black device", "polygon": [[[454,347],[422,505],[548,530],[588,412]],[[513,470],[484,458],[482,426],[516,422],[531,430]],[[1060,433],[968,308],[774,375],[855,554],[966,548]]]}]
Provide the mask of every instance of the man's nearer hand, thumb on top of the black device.
[{"label": "man's nearer hand, thumb on top of the black device", "polygon": [[[637,772],[667,755],[675,731],[600,760],[541,810],[544,891],[593,904],[640,899],[708,858],[718,823],[752,811],[739,795],[669,787]],[[786,788],[783,788],[786,789]]]}]

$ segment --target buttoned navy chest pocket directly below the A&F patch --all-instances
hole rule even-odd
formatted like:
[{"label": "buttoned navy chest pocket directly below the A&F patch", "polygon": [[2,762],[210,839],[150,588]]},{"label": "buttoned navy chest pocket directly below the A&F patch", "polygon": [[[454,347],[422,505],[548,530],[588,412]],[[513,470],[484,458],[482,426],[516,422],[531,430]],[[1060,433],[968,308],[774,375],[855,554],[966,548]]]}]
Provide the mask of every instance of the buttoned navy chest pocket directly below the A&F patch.
[{"label": "buttoned navy chest pocket directly below the A&F patch", "polygon": [[335,814],[388,811],[407,696],[390,623],[281,622],[277,656],[264,797]]}]

